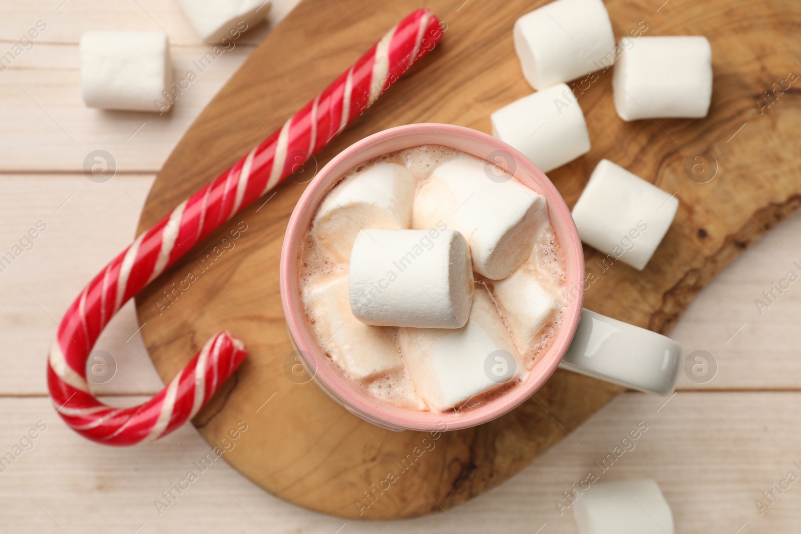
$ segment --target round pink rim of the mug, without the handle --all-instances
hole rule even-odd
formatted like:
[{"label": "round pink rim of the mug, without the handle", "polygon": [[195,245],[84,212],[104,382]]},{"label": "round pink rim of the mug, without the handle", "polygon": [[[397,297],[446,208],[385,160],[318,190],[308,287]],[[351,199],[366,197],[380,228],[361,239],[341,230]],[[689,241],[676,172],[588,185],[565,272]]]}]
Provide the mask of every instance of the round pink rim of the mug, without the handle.
[{"label": "round pink rim of the mug, without the handle", "polygon": [[[490,161],[494,152],[510,159],[496,159],[504,171],[526,187],[545,196],[548,214],[565,259],[567,305],[556,339],[529,371],[522,383],[504,391],[485,404],[466,412],[421,412],[400,408],[373,398],[345,375],[316,342],[300,299],[300,247],[324,195],[352,168],[380,155],[423,145],[440,145]],[[509,169],[509,163],[516,167]],[[490,163],[493,163],[490,161]],[[578,327],[584,297],[584,255],[570,209],[553,183],[528,158],[500,139],[483,132],[441,123],[396,126],[370,135],[341,151],[329,161],[300,196],[292,210],[280,257],[280,294],[290,339],[304,358],[316,383],[350,412],[385,428],[444,431],[470,428],[510,412],[537,391],[566,354]],[[571,296],[571,292],[574,295]]]}]

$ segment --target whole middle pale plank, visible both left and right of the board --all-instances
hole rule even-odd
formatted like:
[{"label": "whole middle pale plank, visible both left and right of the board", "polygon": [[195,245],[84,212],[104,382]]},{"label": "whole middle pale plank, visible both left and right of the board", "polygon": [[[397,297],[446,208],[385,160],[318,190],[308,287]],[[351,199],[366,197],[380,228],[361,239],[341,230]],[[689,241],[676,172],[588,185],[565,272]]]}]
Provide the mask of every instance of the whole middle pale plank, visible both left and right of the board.
[{"label": "whole middle pale plank, visible both left and right of the board", "polygon": [[[153,175],[119,175],[100,184],[84,175],[0,176],[3,254],[39,219],[49,224],[34,249],[0,273],[0,313],[6,318],[0,333],[9,345],[8,351],[0,353],[0,363],[7,362],[8,369],[0,375],[0,395],[46,394],[42,359],[55,327],[20,288],[35,292],[42,279],[52,279],[36,298],[53,319],[60,319],[83,284],[129,243],[141,213],[137,203],[143,205],[152,180]],[[57,237],[50,239],[48,232],[52,231]],[[801,214],[791,215],[771,230],[771,235],[780,246],[771,236],[759,239],[698,295],[678,321],[671,335],[682,343],[685,354],[709,351],[718,363],[718,374],[710,382],[694,383],[682,373],[679,388],[801,387],[801,360],[795,350],[801,343],[797,327],[801,287],[792,284],[762,316],[754,304],[762,291],[786,276],[792,262],[801,258],[795,254],[801,250]],[[746,327],[727,343],[743,323]],[[129,304],[104,331],[97,348],[115,356],[119,375],[98,386],[98,391],[155,393],[161,388],[140,335],[126,343],[138,327]]]}]

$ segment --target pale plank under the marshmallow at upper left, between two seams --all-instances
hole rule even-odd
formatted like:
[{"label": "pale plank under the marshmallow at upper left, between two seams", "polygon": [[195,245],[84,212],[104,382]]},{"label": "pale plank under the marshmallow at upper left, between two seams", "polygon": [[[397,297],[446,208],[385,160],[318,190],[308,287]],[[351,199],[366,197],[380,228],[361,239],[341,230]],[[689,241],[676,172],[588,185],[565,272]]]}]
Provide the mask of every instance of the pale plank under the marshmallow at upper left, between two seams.
[{"label": "pale plank under the marshmallow at upper left, between two seams", "polygon": [[201,72],[194,62],[208,50],[173,50],[176,79],[185,78],[188,70],[197,78],[179,94],[171,111],[159,114],[87,108],[81,98],[78,47],[34,47],[20,57],[19,65],[0,73],[0,140],[6,149],[0,171],[82,172],[87,155],[99,149],[114,157],[119,171],[158,171],[183,131],[252,47],[236,46]]}]

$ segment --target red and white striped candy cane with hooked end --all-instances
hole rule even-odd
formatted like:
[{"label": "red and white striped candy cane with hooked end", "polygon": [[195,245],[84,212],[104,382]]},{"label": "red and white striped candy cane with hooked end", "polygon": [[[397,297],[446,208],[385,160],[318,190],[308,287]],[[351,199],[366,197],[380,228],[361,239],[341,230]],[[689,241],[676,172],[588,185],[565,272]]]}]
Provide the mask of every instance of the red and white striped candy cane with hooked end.
[{"label": "red and white striped candy cane with hooked end", "polygon": [[95,276],[66,311],[47,360],[50,397],[66,424],[99,443],[133,445],[164,436],[203,408],[247,355],[239,339],[219,332],[147,403],[111,408],[95,399],[86,377],[87,358],[103,327],[195,243],[320,151],[440,38],[431,11],[404,18],[280,130],[139,235]]}]

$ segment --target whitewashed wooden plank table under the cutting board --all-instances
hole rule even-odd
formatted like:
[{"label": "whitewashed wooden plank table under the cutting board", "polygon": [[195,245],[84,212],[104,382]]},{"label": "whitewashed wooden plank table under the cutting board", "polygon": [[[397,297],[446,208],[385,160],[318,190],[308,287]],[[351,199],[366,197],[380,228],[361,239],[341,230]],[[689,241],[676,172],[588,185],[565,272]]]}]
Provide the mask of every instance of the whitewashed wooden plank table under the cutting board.
[{"label": "whitewashed wooden plank table under the cutting board", "polygon": [[[78,38],[85,30],[162,30],[183,74],[209,49],[175,0],[0,2],[0,55],[46,23],[32,47],[0,71],[0,255],[36,224],[46,230],[0,272],[0,532],[576,532],[554,500],[584,479],[625,433],[648,431],[602,480],[648,476],[673,508],[676,532],[799,532],[801,481],[801,283],[760,315],[755,299],[801,259],[801,214],[746,251],[693,303],[674,331],[686,353],[708,351],[714,379],[682,375],[664,399],[626,393],[519,475],[449,514],[390,523],[348,522],[296,508],[214,464],[161,514],[154,500],[209,446],[191,426],[139,448],[93,444],[68,430],[47,397],[45,355],[55,321],[92,275],[134,235],[155,172],[223,82],[297,0],[274,0],[253,28],[199,75],[170,114],[87,109],[80,98]],[[118,167],[107,183],[83,174],[102,149]],[[96,348],[114,356],[114,379],[95,387],[110,404],[159,391],[135,331],[131,303]],[[31,428],[46,430],[36,440]],[[794,464],[798,461],[799,464]],[[760,514],[755,500],[770,508]],[[340,529],[338,531],[337,529]],[[541,530],[537,530],[540,529]]]}]

